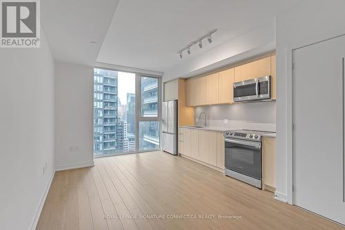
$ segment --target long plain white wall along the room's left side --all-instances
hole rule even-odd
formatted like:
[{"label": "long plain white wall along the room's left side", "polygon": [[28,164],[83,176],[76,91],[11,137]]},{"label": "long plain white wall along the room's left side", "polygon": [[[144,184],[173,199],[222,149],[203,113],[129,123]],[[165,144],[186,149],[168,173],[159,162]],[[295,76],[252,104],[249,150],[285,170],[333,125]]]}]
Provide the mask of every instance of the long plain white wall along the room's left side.
[{"label": "long plain white wall along the room's left side", "polygon": [[43,31],[41,48],[0,49],[0,70],[0,229],[30,229],[55,171],[54,61]]}]

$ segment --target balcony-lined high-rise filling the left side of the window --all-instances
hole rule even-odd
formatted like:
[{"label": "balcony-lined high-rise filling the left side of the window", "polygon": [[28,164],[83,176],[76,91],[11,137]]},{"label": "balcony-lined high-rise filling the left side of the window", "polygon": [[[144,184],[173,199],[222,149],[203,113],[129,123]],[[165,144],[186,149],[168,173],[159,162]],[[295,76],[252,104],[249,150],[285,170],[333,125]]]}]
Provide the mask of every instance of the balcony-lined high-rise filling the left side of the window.
[{"label": "balcony-lined high-rise filling the left side of the window", "polygon": [[94,154],[117,149],[117,72],[94,69]]}]

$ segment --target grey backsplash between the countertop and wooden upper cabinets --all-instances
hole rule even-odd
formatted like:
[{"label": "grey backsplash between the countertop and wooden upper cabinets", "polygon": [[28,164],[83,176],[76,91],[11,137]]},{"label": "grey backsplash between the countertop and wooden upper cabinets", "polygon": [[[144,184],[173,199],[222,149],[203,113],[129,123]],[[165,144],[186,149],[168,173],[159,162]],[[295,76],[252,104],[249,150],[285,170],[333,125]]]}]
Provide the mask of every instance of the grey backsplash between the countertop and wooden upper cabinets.
[{"label": "grey backsplash between the countertop and wooden upper cabinets", "polygon": [[195,121],[197,123],[199,114],[204,112],[208,126],[275,132],[275,104],[275,101],[265,101],[196,107]]}]

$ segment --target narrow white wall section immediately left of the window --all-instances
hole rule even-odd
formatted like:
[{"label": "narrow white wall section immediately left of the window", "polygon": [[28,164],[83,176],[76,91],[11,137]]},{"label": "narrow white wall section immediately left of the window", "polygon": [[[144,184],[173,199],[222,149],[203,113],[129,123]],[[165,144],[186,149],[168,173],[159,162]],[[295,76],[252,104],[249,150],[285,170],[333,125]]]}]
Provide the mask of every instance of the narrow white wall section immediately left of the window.
[{"label": "narrow white wall section immediately left of the window", "polygon": [[93,165],[93,67],[55,63],[55,165]]}]

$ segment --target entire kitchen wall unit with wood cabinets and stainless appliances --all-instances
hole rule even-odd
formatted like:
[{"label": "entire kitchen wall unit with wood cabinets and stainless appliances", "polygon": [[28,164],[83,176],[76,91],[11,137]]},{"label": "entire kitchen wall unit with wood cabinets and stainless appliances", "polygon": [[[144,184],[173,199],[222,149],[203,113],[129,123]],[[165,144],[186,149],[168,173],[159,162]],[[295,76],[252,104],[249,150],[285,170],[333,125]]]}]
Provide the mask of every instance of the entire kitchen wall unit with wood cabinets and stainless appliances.
[{"label": "entire kitchen wall unit with wood cabinets and stainless appliances", "polygon": [[[270,52],[164,83],[163,150],[275,192],[275,59]],[[175,100],[178,128],[172,137],[168,103]]]}]

